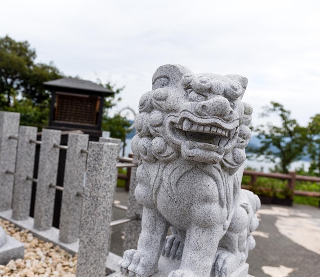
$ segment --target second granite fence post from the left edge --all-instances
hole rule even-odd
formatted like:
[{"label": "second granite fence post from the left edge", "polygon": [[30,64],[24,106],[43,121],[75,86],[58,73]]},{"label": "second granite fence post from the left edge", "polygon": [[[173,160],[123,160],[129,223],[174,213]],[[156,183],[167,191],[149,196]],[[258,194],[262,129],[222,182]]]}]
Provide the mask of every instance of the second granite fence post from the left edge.
[{"label": "second granite fence post from the left edge", "polygon": [[14,195],[12,198],[12,218],[25,220],[29,217],[32,181],[27,176],[33,176],[37,127],[20,126],[17,149],[16,172],[14,178]]}]

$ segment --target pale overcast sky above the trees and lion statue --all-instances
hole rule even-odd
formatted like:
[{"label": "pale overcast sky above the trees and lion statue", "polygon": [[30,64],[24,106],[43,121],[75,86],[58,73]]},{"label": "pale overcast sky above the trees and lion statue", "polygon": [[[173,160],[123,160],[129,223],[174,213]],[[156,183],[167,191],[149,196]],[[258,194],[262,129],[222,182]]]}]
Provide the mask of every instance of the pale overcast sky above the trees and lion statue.
[{"label": "pale overcast sky above the trees and lion statue", "polygon": [[[240,74],[243,98],[277,101],[300,124],[320,113],[320,2],[0,0],[0,37],[28,40],[65,75],[125,86],[113,112],[151,89],[154,71]],[[276,121],[275,121],[276,122]]]}]

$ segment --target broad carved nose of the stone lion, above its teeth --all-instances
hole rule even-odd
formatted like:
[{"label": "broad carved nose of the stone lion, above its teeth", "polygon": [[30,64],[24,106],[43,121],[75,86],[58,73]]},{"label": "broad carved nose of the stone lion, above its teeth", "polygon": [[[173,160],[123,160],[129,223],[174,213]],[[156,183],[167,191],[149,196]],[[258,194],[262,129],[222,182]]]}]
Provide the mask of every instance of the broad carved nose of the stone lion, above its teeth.
[{"label": "broad carved nose of the stone lion, above its teeth", "polygon": [[197,116],[217,116],[224,118],[232,112],[229,101],[223,96],[215,96],[209,100],[198,102],[195,108]]}]

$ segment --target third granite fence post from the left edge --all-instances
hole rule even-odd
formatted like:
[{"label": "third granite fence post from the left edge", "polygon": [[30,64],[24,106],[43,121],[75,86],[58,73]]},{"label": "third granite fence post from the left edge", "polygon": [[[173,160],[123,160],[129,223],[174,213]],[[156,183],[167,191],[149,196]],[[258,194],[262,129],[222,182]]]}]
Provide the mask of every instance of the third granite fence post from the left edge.
[{"label": "third granite fence post from the left edge", "polygon": [[56,185],[59,148],[54,144],[60,144],[61,131],[42,129],[38,182],[34,207],[34,228],[39,231],[52,227],[54,198],[56,189],[50,184]]}]

